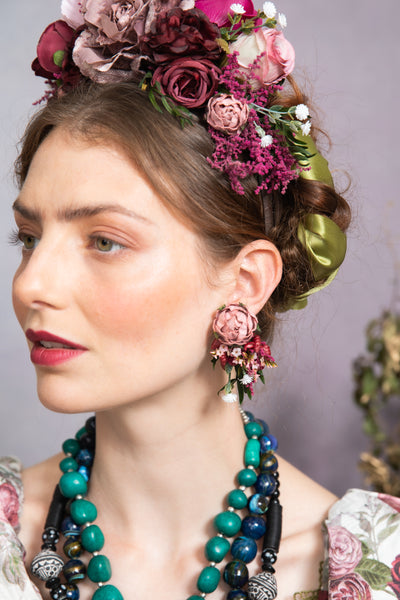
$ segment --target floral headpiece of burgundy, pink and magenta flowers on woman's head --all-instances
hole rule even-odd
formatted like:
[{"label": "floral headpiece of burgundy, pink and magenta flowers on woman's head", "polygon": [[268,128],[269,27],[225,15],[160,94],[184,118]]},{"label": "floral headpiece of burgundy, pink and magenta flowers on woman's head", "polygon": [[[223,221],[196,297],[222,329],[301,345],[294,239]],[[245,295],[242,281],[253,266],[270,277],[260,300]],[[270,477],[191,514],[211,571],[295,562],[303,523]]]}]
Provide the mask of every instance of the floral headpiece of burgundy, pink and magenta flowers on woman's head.
[{"label": "floral headpiece of burgundy, pink and magenta flowers on woman's head", "polygon": [[182,125],[205,120],[208,160],[238,194],[250,175],[256,193],[284,193],[312,167],[307,106],[273,103],[295,54],[272,2],[256,11],[251,0],[62,0],[61,12],[32,64],[50,85],[45,98],[85,78],[139,81],[158,111]]}]

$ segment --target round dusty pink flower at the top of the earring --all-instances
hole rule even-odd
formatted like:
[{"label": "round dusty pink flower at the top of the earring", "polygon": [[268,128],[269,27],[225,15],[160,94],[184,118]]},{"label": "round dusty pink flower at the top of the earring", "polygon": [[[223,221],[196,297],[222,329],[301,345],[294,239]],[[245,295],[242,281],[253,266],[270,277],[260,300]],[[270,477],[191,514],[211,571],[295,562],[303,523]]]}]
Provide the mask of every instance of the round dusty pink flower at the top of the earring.
[{"label": "round dusty pink flower at the top of the earring", "polygon": [[227,346],[246,344],[257,328],[257,317],[241,304],[229,304],[217,312],[213,330],[218,340]]}]

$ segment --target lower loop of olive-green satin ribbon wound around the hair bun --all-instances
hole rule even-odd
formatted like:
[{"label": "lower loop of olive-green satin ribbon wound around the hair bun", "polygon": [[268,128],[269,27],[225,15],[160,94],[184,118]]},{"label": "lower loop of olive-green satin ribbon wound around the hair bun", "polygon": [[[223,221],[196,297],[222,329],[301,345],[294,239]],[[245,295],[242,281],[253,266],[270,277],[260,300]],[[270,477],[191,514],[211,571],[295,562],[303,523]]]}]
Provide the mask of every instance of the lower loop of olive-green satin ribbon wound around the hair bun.
[{"label": "lower loop of olive-green satin ribbon wound around the hair bun", "polygon": [[292,309],[304,308],[307,298],[329,285],[334,279],[346,255],[346,234],[324,215],[308,214],[298,226],[297,235],[307,250],[315,281],[325,279],[324,283],[297,296]]}]

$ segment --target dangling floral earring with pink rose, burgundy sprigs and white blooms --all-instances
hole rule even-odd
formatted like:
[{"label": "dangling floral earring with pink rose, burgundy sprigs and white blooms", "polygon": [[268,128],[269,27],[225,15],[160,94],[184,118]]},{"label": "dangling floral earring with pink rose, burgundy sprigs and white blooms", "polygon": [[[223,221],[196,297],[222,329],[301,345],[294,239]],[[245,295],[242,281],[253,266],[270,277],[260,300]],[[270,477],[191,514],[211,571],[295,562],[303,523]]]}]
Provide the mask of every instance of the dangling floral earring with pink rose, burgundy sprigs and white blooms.
[{"label": "dangling floral earring with pink rose, burgundy sprigs and white blooms", "polygon": [[211,362],[215,367],[219,360],[228,374],[228,383],[219,392],[224,391],[224,402],[236,402],[237,394],[232,391],[236,384],[242,403],[245,394],[252,397],[258,378],[264,383],[263,369],[276,367],[276,362],[257,333],[260,331],[257,317],[243,304],[221,306],[213,321],[213,331]]}]

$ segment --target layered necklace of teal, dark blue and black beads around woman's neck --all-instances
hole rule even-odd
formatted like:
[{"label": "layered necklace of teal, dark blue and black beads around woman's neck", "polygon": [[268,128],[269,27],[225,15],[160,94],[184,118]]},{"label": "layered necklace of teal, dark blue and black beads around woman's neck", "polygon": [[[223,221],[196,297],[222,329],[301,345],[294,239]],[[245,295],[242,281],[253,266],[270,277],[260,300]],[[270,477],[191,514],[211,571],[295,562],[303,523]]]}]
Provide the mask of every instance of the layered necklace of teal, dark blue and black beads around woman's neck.
[{"label": "layered necklace of teal, dark blue and black beads around woman's neck", "polygon": [[[204,554],[209,565],[197,579],[197,593],[187,600],[203,600],[214,592],[221,572],[217,564],[229,550],[232,555],[222,573],[231,590],[227,600],[274,600],[277,586],[273,564],[279,550],[282,525],[282,507],[279,503],[278,461],[274,455],[277,442],[269,433],[268,425],[239,409],[247,442],[244,449],[244,468],[237,475],[237,487],[228,494],[227,509],[214,519],[214,535],[205,545]],[[85,499],[90,469],[94,459],[95,418],[86,421],[75,438],[63,444],[66,457],[60,462],[62,476],[54,491],[45,528],[42,549],[31,564],[35,577],[46,582],[52,600],[79,600],[78,583],[87,577],[98,588],[92,600],[124,600],[112,584],[109,559],[100,554],[104,535],[94,523],[96,506]],[[254,488],[249,495],[246,490]],[[248,509],[243,518],[236,511]],[[68,561],[56,552],[60,531],[66,538],[64,552]],[[241,535],[237,535],[241,532]],[[235,539],[230,542],[229,538]],[[249,579],[247,564],[257,555],[256,540],[263,537],[262,572]],[[92,557],[87,569],[79,560],[83,551]],[[64,574],[65,583],[60,575]],[[247,589],[245,589],[247,588]]]}]

